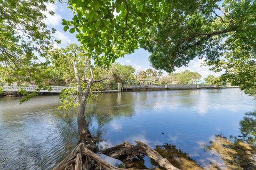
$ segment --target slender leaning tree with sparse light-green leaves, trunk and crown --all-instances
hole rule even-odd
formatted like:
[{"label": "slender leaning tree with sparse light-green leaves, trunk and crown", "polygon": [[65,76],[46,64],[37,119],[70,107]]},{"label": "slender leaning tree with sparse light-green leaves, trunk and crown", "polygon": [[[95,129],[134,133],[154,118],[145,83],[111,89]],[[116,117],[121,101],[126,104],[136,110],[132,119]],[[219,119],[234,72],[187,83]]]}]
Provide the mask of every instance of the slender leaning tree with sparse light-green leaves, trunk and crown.
[{"label": "slender leaning tree with sparse light-green leaves, trunk and crown", "polygon": [[[87,57],[87,53],[75,44],[70,44],[66,48],[51,50],[49,58],[53,66],[62,72],[63,79],[68,78],[70,84],[77,87],[77,89],[71,87],[62,91],[60,95],[62,107],[69,109],[73,106],[79,106],[77,114],[79,142],[84,142],[88,148],[93,150],[95,149],[95,141],[88,130],[84,112],[86,103],[89,102],[88,99],[92,97],[93,84],[101,82],[107,77],[97,79],[99,75],[94,74],[95,69]],[[78,103],[76,99],[78,99]]]}]

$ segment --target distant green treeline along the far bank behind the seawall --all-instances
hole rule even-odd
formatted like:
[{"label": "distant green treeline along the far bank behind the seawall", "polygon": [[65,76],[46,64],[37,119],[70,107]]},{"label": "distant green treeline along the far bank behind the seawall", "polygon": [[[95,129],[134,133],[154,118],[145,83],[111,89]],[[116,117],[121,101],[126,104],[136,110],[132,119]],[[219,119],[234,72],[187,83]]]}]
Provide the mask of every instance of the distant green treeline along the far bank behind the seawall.
[{"label": "distant green treeline along the far bank behind the seawall", "polygon": [[[69,75],[64,75],[63,71],[58,67],[48,66],[50,79],[47,83],[52,86],[70,86]],[[98,70],[98,71],[97,71]],[[179,73],[169,73],[163,75],[161,70],[136,70],[131,65],[122,65],[119,63],[112,64],[109,67],[94,67],[95,74],[100,76],[107,76],[108,79],[101,83],[99,90],[113,90],[117,89],[117,83],[122,84],[218,84],[221,81],[218,77],[209,75],[205,81],[201,81],[202,75],[198,72],[185,70]]]}]

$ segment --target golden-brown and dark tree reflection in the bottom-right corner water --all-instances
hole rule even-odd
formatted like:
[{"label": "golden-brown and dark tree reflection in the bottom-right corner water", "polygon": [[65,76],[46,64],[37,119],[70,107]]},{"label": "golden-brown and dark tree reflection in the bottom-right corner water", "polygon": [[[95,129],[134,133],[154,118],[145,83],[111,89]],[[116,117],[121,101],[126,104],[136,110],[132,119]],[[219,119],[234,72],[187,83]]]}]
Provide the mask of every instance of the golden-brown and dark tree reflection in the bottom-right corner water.
[{"label": "golden-brown and dark tree reflection in the bottom-right corner water", "polygon": [[256,112],[245,113],[240,126],[242,135],[230,136],[229,139],[221,134],[215,135],[215,139],[210,141],[210,146],[207,146],[209,151],[222,159],[223,163],[218,167],[256,169]]}]

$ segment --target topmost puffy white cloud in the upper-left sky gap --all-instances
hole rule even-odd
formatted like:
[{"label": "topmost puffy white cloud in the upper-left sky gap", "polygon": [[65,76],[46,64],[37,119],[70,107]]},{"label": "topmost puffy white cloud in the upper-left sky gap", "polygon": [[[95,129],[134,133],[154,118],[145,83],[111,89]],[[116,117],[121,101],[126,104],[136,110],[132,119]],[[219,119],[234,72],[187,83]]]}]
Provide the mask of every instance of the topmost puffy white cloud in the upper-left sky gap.
[{"label": "topmost puffy white cloud in the upper-left sky gap", "polygon": [[[47,11],[43,12],[46,16],[46,19],[44,20],[45,24],[51,26],[59,25],[61,22],[61,16],[57,13],[57,5],[51,3],[46,3],[45,5],[47,8]],[[49,11],[53,11],[55,14],[51,15],[49,14]]]}]

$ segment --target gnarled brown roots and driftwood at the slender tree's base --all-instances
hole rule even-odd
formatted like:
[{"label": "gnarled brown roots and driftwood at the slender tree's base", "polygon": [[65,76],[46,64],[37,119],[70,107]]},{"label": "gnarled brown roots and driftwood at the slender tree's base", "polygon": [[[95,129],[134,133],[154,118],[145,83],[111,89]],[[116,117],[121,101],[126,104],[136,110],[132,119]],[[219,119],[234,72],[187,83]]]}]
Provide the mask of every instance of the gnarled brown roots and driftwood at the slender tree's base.
[{"label": "gnarled brown roots and driftwood at the slender tree's base", "polygon": [[[148,156],[154,159],[159,166],[168,170],[179,170],[174,167],[166,158],[163,158],[157,151],[152,150],[145,143],[135,141],[137,145],[130,145],[128,142],[124,142],[122,145],[117,145],[108,149],[100,150],[102,154],[107,156],[127,161],[132,161],[136,157]],[[105,169],[105,170],[121,170],[127,168],[118,168],[103,160],[100,156],[88,149],[85,143],[79,143],[76,148],[59,163],[54,170],[90,170],[90,169]],[[155,169],[148,168],[148,169]]]}]

